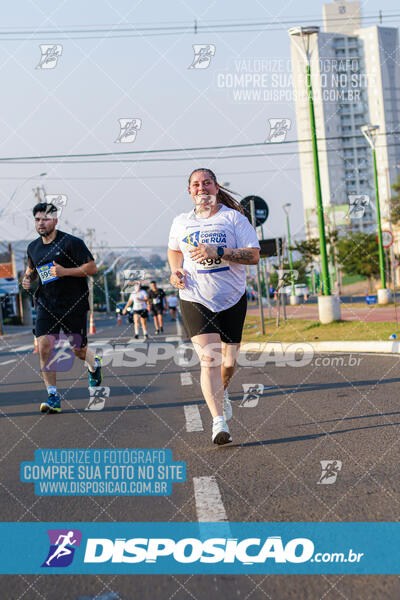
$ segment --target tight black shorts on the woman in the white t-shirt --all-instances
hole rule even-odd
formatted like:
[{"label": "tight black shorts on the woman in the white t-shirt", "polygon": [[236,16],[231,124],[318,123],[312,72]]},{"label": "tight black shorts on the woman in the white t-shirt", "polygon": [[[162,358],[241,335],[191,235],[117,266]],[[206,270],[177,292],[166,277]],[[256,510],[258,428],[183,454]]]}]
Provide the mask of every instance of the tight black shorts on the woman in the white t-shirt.
[{"label": "tight black shorts on the woman in the white t-shirt", "polygon": [[226,344],[239,344],[242,340],[243,324],[246,317],[246,294],[239,302],[214,313],[198,302],[180,300],[181,313],[189,337],[202,333],[219,333]]}]

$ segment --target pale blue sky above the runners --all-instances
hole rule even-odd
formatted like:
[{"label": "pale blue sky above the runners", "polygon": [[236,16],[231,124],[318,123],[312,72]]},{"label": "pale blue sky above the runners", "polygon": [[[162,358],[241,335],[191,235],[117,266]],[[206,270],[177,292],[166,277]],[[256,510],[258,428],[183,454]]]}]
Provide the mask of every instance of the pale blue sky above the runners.
[{"label": "pale blue sky above the runners", "polygon": [[[221,87],[226,74],[262,59],[266,68],[280,62],[280,86],[288,86],[290,56],[287,28],[282,21],[306,24],[322,15],[322,2],[293,0],[218,2],[96,1],[19,2],[1,9],[0,71],[2,112],[0,157],[155,150],[264,142],[268,119],[292,121],[287,139],[296,139],[294,105],[289,100],[238,101]],[[362,2],[365,15],[397,12],[394,0]],[[278,12],[279,11],[279,12]],[[400,13],[400,11],[398,11]],[[70,39],[68,27],[176,25],[197,19],[199,24],[276,23],[268,32],[194,32],[146,37]],[[400,19],[388,25],[398,26]],[[368,25],[373,24],[371,20]],[[58,34],[5,32],[53,30]],[[64,39],[61,39],[64,37]],[[61,43],[54,69],[36,69],[39,44]],[[213,44],[216,51],[207,69],[188,69],[193,44]],[[242,66],[241,66],[242,65]],[[253,67],[254,68],[254,67]],[[222,74],[222,75],[221,75]],[[268,74],[271,77],[271,74]],[[222,79],[221,79],[222,78]],[[270,80],[271,81],[271,80]],[[271,84],[272,85],[272,84]],[[120,118],[139,118],[141,129],[131,144],[116,144]],[[291,147],[291,149],[294,149]],[[256,153],[256,150],[254,153]],[[152,163],[18,164],[0,163],[0,208],[16,186],[10,216],[3,218],[2,240],[32,239],[34,233],[18,211],[29,213],[32,186],[42,183],[49,194],[66,194],[60,228],[94,227],[97,242],[112,245],[166,244],[173,217],[191,207],[187,175],[209,166],[220,182],[242,195],[258,194],[270,207],[265,237],[282,234],[282,202],[292,203],[292,229],[302,237],[303,212],[297,156],[224,158],[232,151],[204,153],[218,158]],[[244,149],[241,154],[252,153]],[[272,153],[272,150],[271,150]],[[39,180],[28,177],[47,172]],[[67,222],[66,222],[67,221]]]}]

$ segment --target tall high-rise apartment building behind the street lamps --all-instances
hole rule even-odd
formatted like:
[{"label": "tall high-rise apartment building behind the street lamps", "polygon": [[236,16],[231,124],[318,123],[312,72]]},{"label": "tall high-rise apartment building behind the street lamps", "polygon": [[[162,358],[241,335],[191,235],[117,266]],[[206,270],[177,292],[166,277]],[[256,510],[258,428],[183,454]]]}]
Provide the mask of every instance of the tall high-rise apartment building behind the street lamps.
[{"label": "tall high-rise apartment building behind the street lamps", "polygon": [[[391,185],[400,173],[400,50],[398,29],[362,27],[360,2],[323,6],[323,29],[308,36],[326,226],[376,230],[372,151],[361,126],[378,125],[376,158],[383,227],[390,227]],[[301,185],[308,237],[318,235],[307,49],[291,39]],[[363,210],[350,209],[362,203]],[[398,239],[397,239],[398,238]],[[396,236],[400,251],[400,234]]]}]

